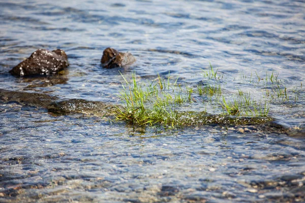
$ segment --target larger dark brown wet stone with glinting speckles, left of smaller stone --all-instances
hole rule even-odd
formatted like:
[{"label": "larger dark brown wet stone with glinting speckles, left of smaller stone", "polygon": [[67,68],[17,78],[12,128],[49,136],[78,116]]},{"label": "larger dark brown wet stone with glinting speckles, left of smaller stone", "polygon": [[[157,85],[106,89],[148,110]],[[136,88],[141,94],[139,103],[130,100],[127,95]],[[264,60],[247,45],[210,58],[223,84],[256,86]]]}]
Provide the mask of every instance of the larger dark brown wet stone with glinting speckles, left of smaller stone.
[{"label": "larger dark brown wet stone with glinting speckles, left of smaller stone", "polygon": [[65,51],[56,49],[48,51],[38,49],[27,59],[13,67],[10,73],[14,76],[34,76],[57,74],[69,65]]}]

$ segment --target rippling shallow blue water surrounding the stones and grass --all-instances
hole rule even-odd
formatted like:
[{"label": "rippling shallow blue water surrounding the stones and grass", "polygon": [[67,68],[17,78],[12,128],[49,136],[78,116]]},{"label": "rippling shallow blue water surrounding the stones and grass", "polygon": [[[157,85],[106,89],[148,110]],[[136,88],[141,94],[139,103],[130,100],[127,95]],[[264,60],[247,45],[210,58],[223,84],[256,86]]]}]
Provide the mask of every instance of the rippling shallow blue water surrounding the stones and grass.
[{"label": "rippling shallow blue water surrounding the stones and grass", "polygon": [[[224,91],[279,73],[300,93],[275,100],[276,126],[138,127],[82,114],[0,103],[2,202],[305,201],[305,4],[303,1],[2,1],[0,88],[60,98],[118,100],[123,78],[158,73],[194,86],[211,63]],[[129,69],[103,69],[106,47],[129,51]],[[8,71],[38,48],[61,48],[64,75],[15,78]],[[245,79],[245,76],[248,76]],[[293,95],[293,94],[292,94]],[[220,113],[198,102],[187,110]]]}]

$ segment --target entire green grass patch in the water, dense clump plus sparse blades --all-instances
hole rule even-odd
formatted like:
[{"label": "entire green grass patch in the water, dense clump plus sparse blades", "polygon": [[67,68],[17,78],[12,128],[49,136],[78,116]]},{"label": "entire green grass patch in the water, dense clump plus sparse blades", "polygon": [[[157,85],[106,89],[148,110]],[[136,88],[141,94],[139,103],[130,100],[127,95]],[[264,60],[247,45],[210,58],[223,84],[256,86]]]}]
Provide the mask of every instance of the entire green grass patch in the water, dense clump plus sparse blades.
[{"label": "entire green grass patch in the water, dense clump plus sparse blades", "polygon": [[[119,90],[119,97],[124,105],[123,108],[117,107],[115,117],[117,120],[124,120],[130,124],[155,125],[158,123],[167,127],[212,122],[213,119],[215,122],[224,122],[226,119],[234,122],[232,119],[234,117],[238,117],[239,120],[241,117],[251,119],[265,117],[264,120],[268,120],[270,104],[276,99],[281,102],[289,101],[291,92],[288,92],[282,81],[278,79],[279,74],[272,72],[270,76],[266,74],[265,78],[255,74],[257,83],[254,83],[252,74],[250,83],[261,88],[261,83],[264,81],[263,85],[266,90],[258,100],[251,95],[250,91],[243,92],[241,89],[237,89],[238,93],[224,93],[223,75],[219,76],[218,70],[215,72],[211,65],[208,71],[203,72],[204,82],[199,83],[196,88],[178,84],[178,77],[172,81],[170,73],[167,79],[163,79],[158,74],[157,79],[150,83],[139,83],[135,73],[131,80],[127,80],[121,74],[125,82],[122,84],[122,89]],[[245,76],[243,78],[247,79]],[[295,101],[299,97],[299,92],[299,89],[292,90]],[[222,110],[222,114],[213,116],[201,111],[181,111],[183,107],[196,102],[199,98],[216,111]],[[228,119],[228,116],[232,118]],[[207,117],[210,120],[207,120]],[[246,122],[245,119],[243,121]]]}]

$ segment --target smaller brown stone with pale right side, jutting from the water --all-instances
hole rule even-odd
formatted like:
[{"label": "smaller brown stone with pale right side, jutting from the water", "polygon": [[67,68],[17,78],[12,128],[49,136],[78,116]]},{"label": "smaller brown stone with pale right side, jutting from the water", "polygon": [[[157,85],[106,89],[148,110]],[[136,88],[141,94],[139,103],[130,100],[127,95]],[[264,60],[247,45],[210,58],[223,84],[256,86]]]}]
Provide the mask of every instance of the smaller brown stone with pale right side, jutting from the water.
[{"label": "smaller brown stone with pale right side, jutting from the water", "polygon": [[113,67],[124,67],[131,65],[136,61],[136,58],[129,52],[118,52],[112,48],[106,48],[101,59],[103,67],[112,69]]}]

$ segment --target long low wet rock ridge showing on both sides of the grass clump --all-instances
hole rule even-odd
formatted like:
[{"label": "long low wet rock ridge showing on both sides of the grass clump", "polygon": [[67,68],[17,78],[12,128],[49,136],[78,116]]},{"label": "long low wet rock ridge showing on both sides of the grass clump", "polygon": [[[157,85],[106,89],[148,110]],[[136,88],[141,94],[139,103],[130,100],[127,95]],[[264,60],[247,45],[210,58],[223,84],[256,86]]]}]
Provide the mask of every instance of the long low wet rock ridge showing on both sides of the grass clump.
[{"label": "long low wet rock ridge showing on both sides of the grass clump", "polygon": [[[28,93],[0,89],[0,102],[17,102],[26,106],[46,108],[49,112],[66,115],[73,113],[93,114],[97,116],[112,117],[124,111],[124,106],[104,103],[102,101],[89,101],[84,99],[60,100],[57,96],[44,93]],[[174,122],[176,126],[199,125],[258,125],[258,129],[269,132],[290,134],[295,129],[281,127],[271,117],[232,117],[226,115],[212,115],[206,112],[178,112]],[[157,122],[156,122],[157,123]],[[299,130],[297,130],[299,131]]]}]

